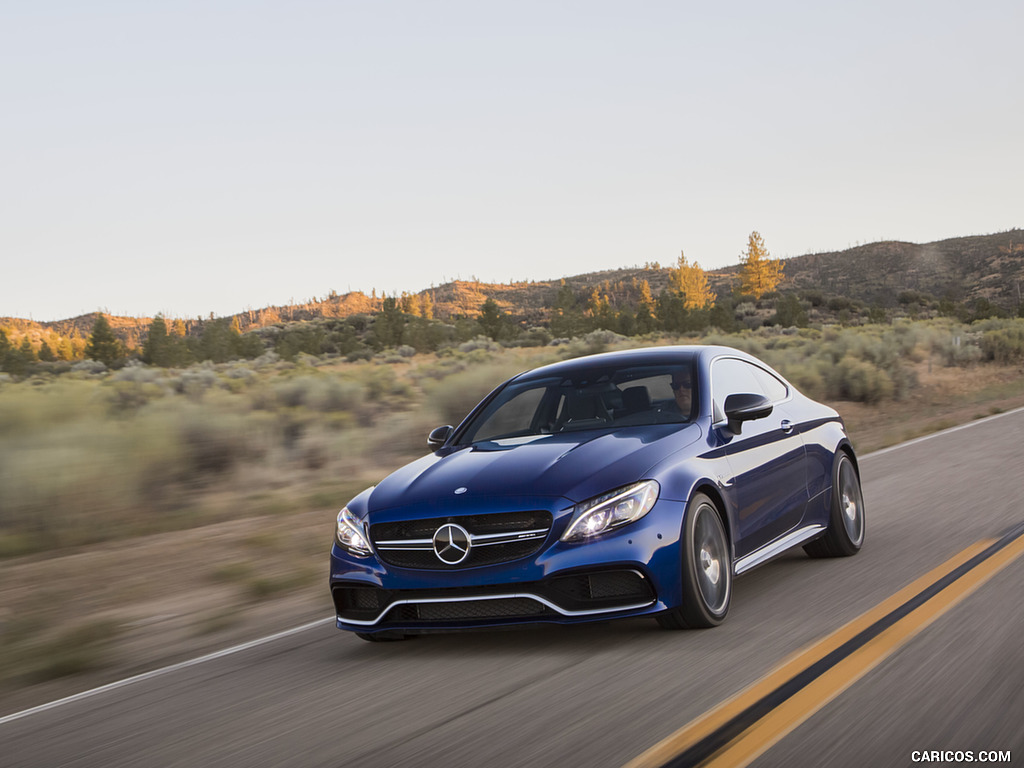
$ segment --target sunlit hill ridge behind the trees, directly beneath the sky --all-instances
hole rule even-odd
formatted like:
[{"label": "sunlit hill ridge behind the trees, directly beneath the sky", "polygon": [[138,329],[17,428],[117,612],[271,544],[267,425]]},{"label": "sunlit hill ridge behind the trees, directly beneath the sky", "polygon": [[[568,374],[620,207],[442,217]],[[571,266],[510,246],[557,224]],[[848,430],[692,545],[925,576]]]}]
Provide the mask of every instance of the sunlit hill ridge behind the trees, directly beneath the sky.
[{"label": "sunlit hill ridge behind the trees, directly beneath the sky", "polygon": [[[1024,229],[1014,228],[992,234],[949,238],[932,243],[880,241],[842,251],[792,256],[785,265],[782,293],[820,291],[845,296],[867,304],[893,305],[898,295],[918,291],[953,301],[986,299],[1012,310],[1021,303],[1024,282]],[[738,281],[740,265],[708,270],[709,282],[719,295],[728,294]],[[657,296],[668,287],[670,267],[644,265],[595,270],[549,280],[520,281],[509,284],[478,280],[453,280],[431,286],[415,294],[402,294],[420,306],[429,300],[432,316],[451,319],[476,316],[486,299],[526,324],[543,323],[550,314],[562,285],[574,292],[607,289],[611,286],[636,286],[646,280]],[[325,298],[279,304],[261,309],[246,309],[220,318],[238,321],[242,331],[279,323],[304,322],[321,317],[347,317],[371,314],[383,308],[384,295],[362,291],[345,294],[331,292]],[[415,303],[415,302],[414,302]],[[98,312],[89,312],[59,321],[38,322],[19,317],[0,317],[0,328],[17,333],[51,332],[60,336],[88,336]],[[106,315],[115,333],[134,346],[140,343],[153,317]],[[180,321],[186,334],[202,331],[211,318],[168,317]]]}]

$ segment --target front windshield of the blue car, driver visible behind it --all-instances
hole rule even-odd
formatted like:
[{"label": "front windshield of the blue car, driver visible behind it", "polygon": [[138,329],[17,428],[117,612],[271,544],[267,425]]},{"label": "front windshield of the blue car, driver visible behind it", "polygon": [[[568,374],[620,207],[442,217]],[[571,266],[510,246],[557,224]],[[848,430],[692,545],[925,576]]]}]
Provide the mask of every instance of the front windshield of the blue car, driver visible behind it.
[{"label": "front windshield of the blue car, driver visible behind it", "polygon": [[683,424],[692,418],[693,388],[689,361],[514,381],[466,425],[457,444],[585,429]]}]

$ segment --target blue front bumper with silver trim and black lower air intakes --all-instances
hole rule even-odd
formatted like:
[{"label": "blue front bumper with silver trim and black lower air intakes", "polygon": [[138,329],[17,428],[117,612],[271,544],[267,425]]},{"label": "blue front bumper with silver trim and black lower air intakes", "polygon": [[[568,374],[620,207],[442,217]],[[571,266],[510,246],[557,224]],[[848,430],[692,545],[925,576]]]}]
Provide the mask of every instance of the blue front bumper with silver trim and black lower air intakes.
[{"label": "blue front bumper with silver trim and black lower air intakes", "polygon": [[657,613],[680,602],[683,505],[659,502],[644,518],[591,542],[558,541],[537,554],[452,570],[406,568],[335,545],[337,626],[353,632],[578,624]]}]

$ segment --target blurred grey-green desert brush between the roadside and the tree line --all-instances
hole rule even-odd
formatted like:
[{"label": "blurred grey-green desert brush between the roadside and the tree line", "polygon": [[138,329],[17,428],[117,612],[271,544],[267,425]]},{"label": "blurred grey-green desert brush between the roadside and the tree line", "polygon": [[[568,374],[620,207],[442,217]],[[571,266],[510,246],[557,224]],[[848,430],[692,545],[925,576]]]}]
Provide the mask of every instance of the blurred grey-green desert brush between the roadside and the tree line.
[{"label": "blurred grey-green desert brush between the roadside and the tree line", "polygon": [[[378,322],[362,333],[375,333]],[[537,333],[518,339],[525,346],[453,333],[430,352],[404,343],[373,351],[353,325],[342,325],[350,335],[327,323],[247,335],[259,339],[258,350],[228,328],[231,353],[184,367],[86,359],[0,376],[0,557],[340,507],[425,453],[432,427],[457,424],[508,376],[611,348],[726,344],[765,359],[812,397],[866,407],[904,401],[940,371],[1024,362],[1019,318]],[[335,335],[362,345],[359,353],[337,349]],[[318,354],[306,351],[311,344]]]}]

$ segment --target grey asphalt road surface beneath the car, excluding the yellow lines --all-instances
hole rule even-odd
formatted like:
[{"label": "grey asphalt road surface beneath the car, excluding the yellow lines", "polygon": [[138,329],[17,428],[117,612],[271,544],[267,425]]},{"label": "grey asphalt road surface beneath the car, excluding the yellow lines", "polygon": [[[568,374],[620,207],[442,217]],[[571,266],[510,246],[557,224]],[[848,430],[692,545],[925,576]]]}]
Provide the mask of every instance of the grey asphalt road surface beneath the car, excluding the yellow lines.
[{"label": "grey asphalt road surface beneath the car, excluding the yellow lines", "polygon": [[[331,624],[0,724],[9,766],[622,766],[979,540],[1024,521],[1024,412],[862,461],[853,558],[739,578],[728,621],[370,644]],[[326,557],[326,554],[325,554]],[[1024,557],[754,765],[1024,761]],[[326,588],[326,587],[325,587]]]}]

